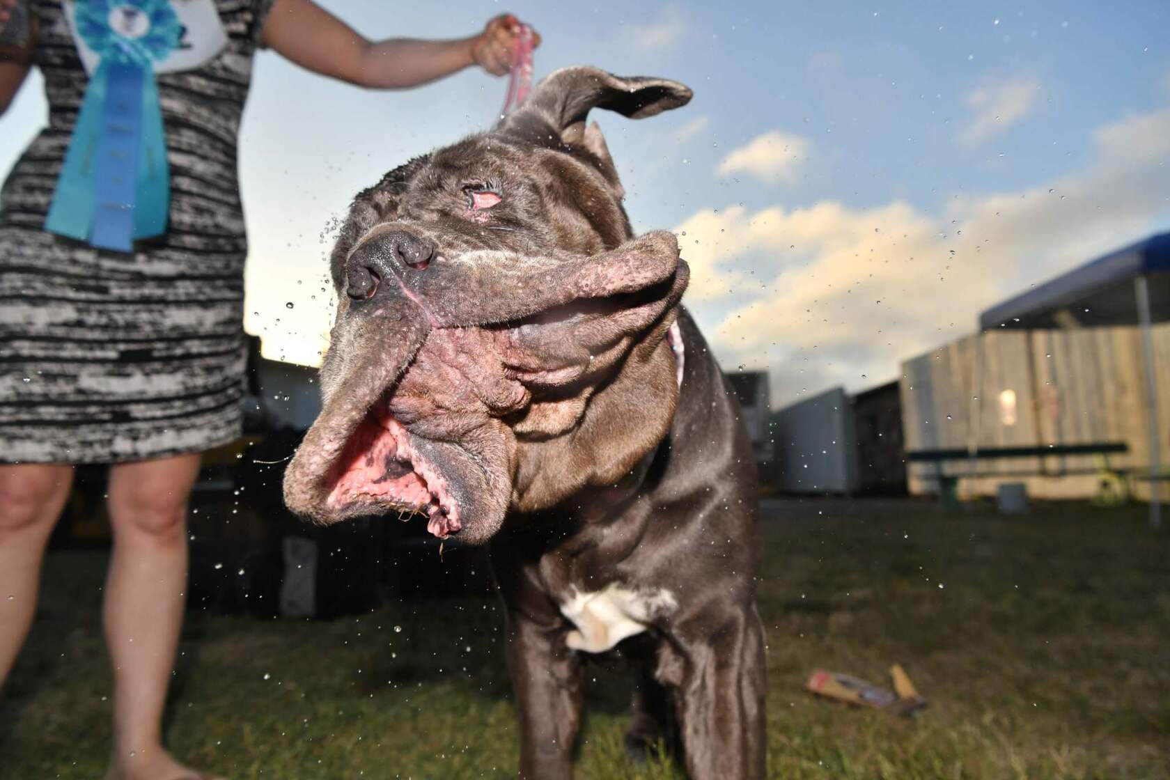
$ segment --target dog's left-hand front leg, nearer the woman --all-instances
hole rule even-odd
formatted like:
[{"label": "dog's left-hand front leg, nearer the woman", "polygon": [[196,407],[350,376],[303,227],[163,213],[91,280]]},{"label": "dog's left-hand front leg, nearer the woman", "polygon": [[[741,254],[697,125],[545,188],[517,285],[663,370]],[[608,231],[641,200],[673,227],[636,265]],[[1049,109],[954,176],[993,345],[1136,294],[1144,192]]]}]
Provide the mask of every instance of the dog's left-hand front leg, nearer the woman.
[{"label": "dog's left-hand front leg, nearer the woman", "polygon": [[523,617],[510,624],[508,669],[519,717],[519,776],[570,780],[580,729],[581,662],[563,630]]}]

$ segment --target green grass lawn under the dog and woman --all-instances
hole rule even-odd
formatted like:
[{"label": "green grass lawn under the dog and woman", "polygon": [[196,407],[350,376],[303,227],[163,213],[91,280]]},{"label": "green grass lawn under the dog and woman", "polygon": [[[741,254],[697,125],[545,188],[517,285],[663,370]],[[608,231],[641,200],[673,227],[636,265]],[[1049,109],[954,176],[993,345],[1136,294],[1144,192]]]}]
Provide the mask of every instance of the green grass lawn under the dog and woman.
[{"label": "green grass lawn under the dog and woman", "polygon": [[[1170,532],[1149,531],[1142,509],[811,515],[764,531],[770,776],[1170,778]],[[104,562],[49,557],[0,704],[6,780],[101,776]],[[192,615],[168,743],[236,780],[511,775],[501,623],[490,598],[332,622]],[[917,719],[801,689],[815,667],[886,683],[894,662],[930,699]],[[591,676],[578,776],[681,776],[626,762],[624,672]]]}]

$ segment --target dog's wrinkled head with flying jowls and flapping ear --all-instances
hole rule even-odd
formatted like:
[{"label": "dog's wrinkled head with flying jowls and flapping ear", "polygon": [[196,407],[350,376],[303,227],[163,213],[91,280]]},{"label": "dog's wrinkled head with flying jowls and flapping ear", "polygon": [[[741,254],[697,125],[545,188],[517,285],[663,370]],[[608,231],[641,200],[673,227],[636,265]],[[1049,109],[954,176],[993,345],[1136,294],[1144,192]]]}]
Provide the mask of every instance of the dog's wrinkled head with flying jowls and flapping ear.
[{"label": "dog's wrinkled head with flying jowls and flapping ear", "polygon": [[632,239],[586,117],[689,99],[661,78],[559,70],[491,132],[357,196],[331,257],[323,410],[285,474],[290,509],[324,523],[421,512],[435,536],[482,541],[509,506],[613,484],[661,439],[687,267],[673,235]]}]

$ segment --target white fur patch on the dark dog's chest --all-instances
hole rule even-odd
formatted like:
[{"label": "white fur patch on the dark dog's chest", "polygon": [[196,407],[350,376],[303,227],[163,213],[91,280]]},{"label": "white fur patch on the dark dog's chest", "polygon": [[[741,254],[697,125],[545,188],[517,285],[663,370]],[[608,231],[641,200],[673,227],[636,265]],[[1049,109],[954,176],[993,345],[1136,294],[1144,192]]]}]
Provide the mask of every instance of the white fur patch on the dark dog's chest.
[{"label": "white fur patch on the dark dog's chest", "polygon": [[605,653],[614,644],[646,630],[656,617],[679,608],[669,591],[638,591],[617,582],[593,593],[576,588],[560,603],[560,614],[572,621],[565,644],[573,650]]}]

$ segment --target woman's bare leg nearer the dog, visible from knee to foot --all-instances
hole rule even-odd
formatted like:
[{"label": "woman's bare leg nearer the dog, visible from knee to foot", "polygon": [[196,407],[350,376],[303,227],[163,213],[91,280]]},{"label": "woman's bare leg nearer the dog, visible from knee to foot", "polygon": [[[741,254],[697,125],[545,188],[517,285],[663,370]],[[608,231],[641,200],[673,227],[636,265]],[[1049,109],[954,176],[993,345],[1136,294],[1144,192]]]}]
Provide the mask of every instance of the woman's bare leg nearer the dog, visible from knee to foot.
[{"label": "woman's bare leg nearer the dog, visible from knee to foot", "polygon": [[199,456],[110,469],[113,557],[105,639],[113,663],[110,778],[172,780],[187,772],[163,748],[163,706],[187,588],[187,499]]}]

